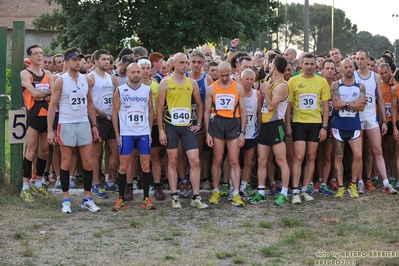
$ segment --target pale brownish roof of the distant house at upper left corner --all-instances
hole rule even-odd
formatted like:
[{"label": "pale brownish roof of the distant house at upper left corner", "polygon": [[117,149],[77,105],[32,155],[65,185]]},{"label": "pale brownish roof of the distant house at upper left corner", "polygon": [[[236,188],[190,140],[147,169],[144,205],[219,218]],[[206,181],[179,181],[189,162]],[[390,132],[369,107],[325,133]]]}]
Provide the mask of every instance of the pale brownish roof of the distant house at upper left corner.
[{"label": "pale brownish roof of the distant house at upper left corner", "polygon": [[46,0],[1,0],[0,27],[12,28],[13,21],[25,21],[25,29],[34,29],[32,21],[40,14],[52,13],[57,4]]}]

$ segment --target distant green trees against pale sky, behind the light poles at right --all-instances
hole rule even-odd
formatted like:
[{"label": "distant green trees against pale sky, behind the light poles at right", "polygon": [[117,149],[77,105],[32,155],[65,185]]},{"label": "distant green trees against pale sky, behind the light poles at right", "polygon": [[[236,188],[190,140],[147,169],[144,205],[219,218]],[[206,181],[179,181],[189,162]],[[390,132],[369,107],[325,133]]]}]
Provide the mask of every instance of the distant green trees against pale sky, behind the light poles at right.
[{"label": "distant green trees against pale sky, behind the light poles at right", "polygon": [[[304,5],[291,3],[286,7],[286,23],[280,25],[280,40],[286,47],[297,46],[299,50],[303,50]],[[309,49],[317,54],[328,54],[332,48],[331,15],[332,6],[315,3],[309,7]],[[333,46],[339,48],[344,56],[359,49],[370,51],[373,55],[392,49],[392,44],[386,37],[373,36],[369,32],[357,33],[357,25],[352,24],[345,12],[337,8],[334,8]]]}]

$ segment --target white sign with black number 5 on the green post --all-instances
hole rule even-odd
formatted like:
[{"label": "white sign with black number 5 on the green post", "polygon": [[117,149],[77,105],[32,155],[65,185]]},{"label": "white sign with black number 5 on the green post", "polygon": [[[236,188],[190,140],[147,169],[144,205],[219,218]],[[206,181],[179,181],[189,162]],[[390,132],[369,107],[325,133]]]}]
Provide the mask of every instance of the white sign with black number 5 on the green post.
[{"label": "white sign with black number 5 on the green post", "polygon": [[8,113],[10,144],[26,142],[26,111],[10,110]]}]

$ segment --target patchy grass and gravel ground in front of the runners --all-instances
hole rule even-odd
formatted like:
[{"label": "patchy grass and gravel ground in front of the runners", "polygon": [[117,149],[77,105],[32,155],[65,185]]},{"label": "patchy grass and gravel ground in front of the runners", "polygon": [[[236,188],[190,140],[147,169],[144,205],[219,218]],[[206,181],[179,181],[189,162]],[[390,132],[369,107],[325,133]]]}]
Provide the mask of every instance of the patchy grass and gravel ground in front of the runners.
[{"label": "patchy grass and gravel ground in front of the runners", "polygon": [[[240,209],[222,198],[209,210],[182,199],[181,210],[166,200],[143,211],[136,200],[122,213],[110,211],[116,194],[95,200],[99,213],[81,210],[78,195],[71,196],[71,215],[61,214],[61,195],[26,204],[18,192],[0,191],[0,265],[131,264],[132,252],[135,265],[313,265],[343,259],[331,256],[342,251],[397,251],[398,196],[379,191],[356,200],[315,195],[312,204],[278,207],[271,199]],[[397,258],[346,259],[399,265]]]}]

